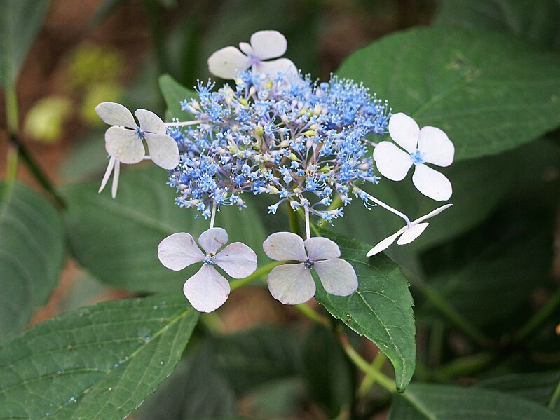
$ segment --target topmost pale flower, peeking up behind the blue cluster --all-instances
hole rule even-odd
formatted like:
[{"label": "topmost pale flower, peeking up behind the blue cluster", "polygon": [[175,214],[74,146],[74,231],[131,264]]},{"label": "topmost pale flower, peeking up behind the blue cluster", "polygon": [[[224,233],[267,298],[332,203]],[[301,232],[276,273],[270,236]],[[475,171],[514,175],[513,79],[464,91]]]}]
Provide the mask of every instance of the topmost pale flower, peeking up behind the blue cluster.
[{"label": "topmost pale flower, peeking up behind the blue cluster", "polygon": [[[278,31],[259,31],[251,36],[251,43],[241,42],[239,48],[228,46],[217,50],[208,58],[208,68],[221,79],[235,79],[238,72],[250,67],[260,74],[275,77],[280,74],[297,74],[292,60],[264,61],[284,55],[287,48],[285,36]],[[242,52],[243,51],[243,52]]]}]

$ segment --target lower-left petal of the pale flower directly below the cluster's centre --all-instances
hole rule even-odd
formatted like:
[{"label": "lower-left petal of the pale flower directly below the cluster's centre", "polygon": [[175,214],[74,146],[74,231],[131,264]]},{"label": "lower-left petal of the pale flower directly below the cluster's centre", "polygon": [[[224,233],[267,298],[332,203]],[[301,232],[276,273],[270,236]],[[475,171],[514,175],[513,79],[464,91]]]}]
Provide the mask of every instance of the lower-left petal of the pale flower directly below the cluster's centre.
[{"label": "lower-left petal of the pale flower directly below the cluster's centre", "polygon": [[303,264],[282,264],[268,273],[268,290],[282,304],[303,304],[315,295],[315,281]]}]

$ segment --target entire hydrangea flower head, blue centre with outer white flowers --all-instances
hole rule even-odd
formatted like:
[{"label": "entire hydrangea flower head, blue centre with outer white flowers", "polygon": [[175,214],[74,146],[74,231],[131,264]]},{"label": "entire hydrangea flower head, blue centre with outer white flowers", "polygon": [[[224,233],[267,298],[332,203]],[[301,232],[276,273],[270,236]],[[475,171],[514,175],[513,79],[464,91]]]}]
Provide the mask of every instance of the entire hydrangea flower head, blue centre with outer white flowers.
[{"label": "entire hydrangea flower head, blue centre with outer white flowers", "polygon": [[[439,128],[419,128],[411,117],[392,114],[388,102],[362,83],[335,75],[327,82],[303,76],[291,60],[281,57],[287,42],[279,32],[256,32],[250,43],[239,46],[210,56],[210,72],[231,83],[217,88],[212,81],[199,81],[196,97],[181,102],[186,121],[165,123],[153,112],[137,109],[137,123],[121,104],[103,102],[96,107],[111,126],[105,133],[109,165],[100,191],[112,172],[111,191],[116,196],[121,163],[151,160],[169,171],[177,205],[196,209],[197,219],[210,218],[210,229],[200,235],[199,245],[184,232],[164,238],[158,247],[158,257],[168,269],[203,263],[183,287],[198,311],[214,311],[231,291],[214,264],[232,278],[247,278],[257,269],[251,248],[238,242],[226,245],[226,230],[214,227],[222,206],[246,206],[244,194],[273,197],[269,213],[287,203],[305,218],[305,241],[289,232],[273,233],[264,241],[269,258],[296,262],[268,273],[275,299],[299,304],[313,297],[312,269],[326,292],[348,296],[358,287],[355,270],[340,258],[334,241],[311,237],[310,217],[332,223],[357,198],[369,209],[377,205],[404,220],[404,226],[377,243],[368,256],[395,241],[414,241],[428,227],[426,220],[451,204],[411,221],[363,186],[380,182],[377,174],[401,181],[414,166],[415,187],[445,201],[451,197],[451,182],[428,164],[451,165],[453,143]],[[376,136],[386,133],[392,142],[377,142]]]}]

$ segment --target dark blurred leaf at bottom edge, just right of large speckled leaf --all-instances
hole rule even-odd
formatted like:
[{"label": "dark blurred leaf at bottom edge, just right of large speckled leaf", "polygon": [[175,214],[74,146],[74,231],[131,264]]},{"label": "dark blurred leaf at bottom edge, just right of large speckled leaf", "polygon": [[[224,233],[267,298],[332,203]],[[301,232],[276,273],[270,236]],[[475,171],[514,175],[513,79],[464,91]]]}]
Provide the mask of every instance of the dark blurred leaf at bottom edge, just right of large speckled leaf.
[{"label": "dark blurred leaf at bottom edge, just right of large speckled leaf", "polygon": [[142,404],[138,420],[224,419],[235,416],[235,395],[216,372],[205,348],[179,362],[156,393]]}]

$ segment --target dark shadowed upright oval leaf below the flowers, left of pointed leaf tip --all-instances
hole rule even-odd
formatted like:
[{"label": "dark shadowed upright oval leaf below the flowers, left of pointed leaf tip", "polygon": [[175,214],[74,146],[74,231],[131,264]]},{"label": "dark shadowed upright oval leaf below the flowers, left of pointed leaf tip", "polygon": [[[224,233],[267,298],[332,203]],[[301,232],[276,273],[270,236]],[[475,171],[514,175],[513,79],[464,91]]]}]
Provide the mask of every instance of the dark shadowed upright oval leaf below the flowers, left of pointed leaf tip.
[{"label": "dark shadowed upright oval leaf below the flowers, left of pointed leaf tip", "polygon": [[303,342],[303,367],[311,397],[329,419],[343,418],[354,398],[355,378],[350,360],[332,331],[317,325]]}]

